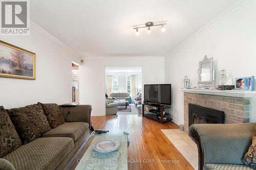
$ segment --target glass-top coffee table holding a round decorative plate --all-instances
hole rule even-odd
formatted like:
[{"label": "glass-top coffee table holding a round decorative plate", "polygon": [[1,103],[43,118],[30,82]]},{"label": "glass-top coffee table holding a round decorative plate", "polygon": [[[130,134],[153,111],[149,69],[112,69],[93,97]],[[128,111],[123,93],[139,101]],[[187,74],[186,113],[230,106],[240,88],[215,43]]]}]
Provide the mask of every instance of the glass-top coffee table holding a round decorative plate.
[{"label": "glass-top coffee table holding a round decorative plate", "polygon": [[[119,147],[115,151],[102,153],[94,150],[94,144],[104,139],[114,139],[119,142]],[[91,142],[82,158],[77,160],[76,170],[82,169],[128,169],[129,157],[138,159],[137,149],[134,142],[134,132],[125,130],[109,130],[107,133],[97,134],[92,132],[88,142]],[[132,165],[136,166],[136,165]],[[131,169],[132,167],[130,167]],[[137,168],[136,168],[137,169]]]}]

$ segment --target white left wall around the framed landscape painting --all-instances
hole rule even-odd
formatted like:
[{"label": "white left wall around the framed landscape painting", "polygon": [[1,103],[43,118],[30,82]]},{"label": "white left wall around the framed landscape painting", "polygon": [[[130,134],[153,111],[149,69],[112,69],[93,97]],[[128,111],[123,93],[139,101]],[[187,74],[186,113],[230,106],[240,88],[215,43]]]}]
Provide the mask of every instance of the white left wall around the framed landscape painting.
[{"label": "white left wall around the framed landscape painting", "polygon": [[0,105],[8,109],[37,102],[72,102],[71,62],[79,63],[79,55],[32,27],[29,36],[0,38],[36,54],[36,80],[0,77]]}]

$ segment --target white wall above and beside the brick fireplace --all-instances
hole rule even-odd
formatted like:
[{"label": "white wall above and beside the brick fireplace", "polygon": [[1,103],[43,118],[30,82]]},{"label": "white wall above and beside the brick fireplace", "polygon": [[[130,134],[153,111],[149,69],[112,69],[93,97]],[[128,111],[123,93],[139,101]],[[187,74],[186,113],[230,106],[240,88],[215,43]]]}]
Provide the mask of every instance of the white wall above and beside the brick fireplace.
[{"label": "white wall above and beside the brick fireplace", "polygon": [[[219,70],[229,77],[256,76],[256,1],[233,12],[165,58],[165,81],[172,83],[173,116],[183,124],[184,76],[197,86],[198,65],[204,55],[213,57]],[[256,107],[256,103],[253,103]],[[252,109],[254,108],[252,107]],[[253,112],[256,110],[254,109]],[[256,114],[256,112],[254,113]],[[252,121],[255,121],[253,118]]]}]

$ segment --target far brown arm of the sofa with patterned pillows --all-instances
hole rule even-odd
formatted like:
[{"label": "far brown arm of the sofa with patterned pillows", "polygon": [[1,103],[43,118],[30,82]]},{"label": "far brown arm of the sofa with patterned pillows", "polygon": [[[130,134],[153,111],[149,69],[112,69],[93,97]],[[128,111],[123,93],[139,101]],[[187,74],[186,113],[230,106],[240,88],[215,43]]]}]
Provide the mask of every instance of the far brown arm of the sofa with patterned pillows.
[{"label": "far brown arm of the sofa with patterned pillows", "polygon": [[91,123],[91,105],[77,105],[61,107],[66,122],[87,122]]}]

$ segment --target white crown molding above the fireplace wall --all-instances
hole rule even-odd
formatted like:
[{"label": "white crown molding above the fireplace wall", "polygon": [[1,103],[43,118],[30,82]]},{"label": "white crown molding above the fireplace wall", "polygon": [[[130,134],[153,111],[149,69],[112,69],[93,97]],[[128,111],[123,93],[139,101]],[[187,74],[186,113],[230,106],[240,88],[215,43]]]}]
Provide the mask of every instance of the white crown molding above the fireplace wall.
[{"label": "white crown molding above the fireplace wall", "polygon": [[234,4],[232,4],[229,8],[224,10],[220,15],[218,15],[215,19],[211,20],[210,22],[207,23],[206,26],[202,27],[199,29],[196,33],[185,39],[183,42],[181,42],[179,45],[175,46],[172,48],[170,51],[168,51],[165,55],[164,58],[168,57],[167,55],[173,54],[176,51],[180,50],[183,46],[188,44],[190,41],[193,41],[206,31],[210,30],[212,27],[216,26],[219,22],[227,18],[229,15],[232,13],[236,12],[238,9],[242,8],[244,5],[248,4],[252,0],[238,0]]}]

